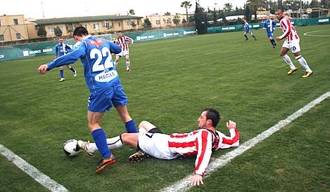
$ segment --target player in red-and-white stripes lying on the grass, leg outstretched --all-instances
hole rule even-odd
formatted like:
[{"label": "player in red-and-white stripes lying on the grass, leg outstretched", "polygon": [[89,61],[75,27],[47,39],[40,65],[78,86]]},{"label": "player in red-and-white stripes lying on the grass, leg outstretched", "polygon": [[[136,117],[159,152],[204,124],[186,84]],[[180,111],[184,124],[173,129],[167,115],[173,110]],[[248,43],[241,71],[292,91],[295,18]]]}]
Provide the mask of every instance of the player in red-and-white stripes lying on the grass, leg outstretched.
[{"label": "player in red-and-white stripes lying on the grass, leg outstretched", "polygon": [[[117,137],[107,139],[108,147],[117,149],[120,146],[130,145],[139,149],[137,153],[129,156],[131,162],[143,160],[145,153],[155,158],[170,160],[179,156],[196,156],[194,175],[191,185],[203,184],[203,174],[210,162],[212,149],[227,149],[239,146],[239,131],[234,121],[227,122],[230,137],[215,130],[220,121],[220,114],[212,108],[204,109],[198,118],[198,130],[189,133],[163,134],[155,125],[142,121],[139,133],[123,133]],[[97,150],[94,143],[78,141],[80,149],[93,155]],[[145,153],[144,153],[145,152]]]}]

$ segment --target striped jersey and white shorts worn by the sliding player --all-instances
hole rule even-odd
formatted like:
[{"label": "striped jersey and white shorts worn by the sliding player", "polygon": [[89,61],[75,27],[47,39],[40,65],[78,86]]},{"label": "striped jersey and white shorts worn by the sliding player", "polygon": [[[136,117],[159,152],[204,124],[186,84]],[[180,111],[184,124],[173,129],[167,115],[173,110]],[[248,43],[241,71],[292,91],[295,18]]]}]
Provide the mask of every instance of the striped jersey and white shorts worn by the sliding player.
[{"label": "striped jersey and white shorts worn by the sliding player", "polygon": [[172,135],[146,132],[139,134],[139,147],[149,155],[162,159],[196,156],[194,172],[203,175],[210,162],[212,149],[239,146],[239,131],[231,128],[229,132],[230,137],[206,129]]}]

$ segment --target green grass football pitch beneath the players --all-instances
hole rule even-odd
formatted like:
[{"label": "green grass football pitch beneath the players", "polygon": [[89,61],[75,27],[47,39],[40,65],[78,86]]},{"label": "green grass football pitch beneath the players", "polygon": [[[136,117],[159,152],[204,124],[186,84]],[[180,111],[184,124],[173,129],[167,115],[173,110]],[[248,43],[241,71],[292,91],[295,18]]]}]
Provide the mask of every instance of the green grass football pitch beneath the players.
[{"label": "green grass football pitch beneath the players", "polygon": [[[297,30],[302,55],[315,72],[310,78],[301,77],[304,70],[292,53],[298,71],[286,74],[282,42],[273,49],[264,30],[253,31],[258,41],[232,32],[137,43],[130,48],[133,71],[125,71],[124,60],[118,65],[129,113],[166,133],[189,132],[203,108],[215,107],[222,116],[218,129],[228,133],[225,122],[234,120],[246,142],[330,90],[330,25]],[[329,36],[303,36],[316,30]],[[37,67],[52,58],[0,63],[0,144],[70,191],[158,191],[191,174],[195,158],[129,163],[134,149],[128,146],[113,151],[118,163],[99,175],[99,153],[65,156],[67,139],[92,141],[89,90],[80,62],[76,78],[65,69],[64,83],[58,69],[40,76]],[[191,191],[329,191],[329,107],[328,98]],[[102,127],[108,137],[125,132],[115,111],[106,113]],[[0,191],[47,189],[0,156]]]}]

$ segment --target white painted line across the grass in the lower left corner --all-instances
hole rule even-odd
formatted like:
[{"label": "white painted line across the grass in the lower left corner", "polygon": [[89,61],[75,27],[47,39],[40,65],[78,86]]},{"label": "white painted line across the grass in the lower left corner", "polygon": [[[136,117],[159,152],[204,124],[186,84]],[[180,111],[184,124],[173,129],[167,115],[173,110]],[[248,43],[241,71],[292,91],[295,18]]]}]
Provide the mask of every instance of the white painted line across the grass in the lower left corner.
[{"label": "white painted line across the grass in the lower left corner", "polygon": [[8,158],[8,160],[14,163],[18,168],[23,170],[23,172],[26,172],[30,175],[30,177],[36,180],[39,184],[42,184],[42,186],[48,188],[50,191],[68,191],[68,189],[64,186],[58,184],[56,181],[46,176],[46,174],[43,174],[41,171],[37,170],[36,167],[33,167],[27,163],[23,160],[23,158],[20,158],[13,153],[13,151],[7,149],[6,146],[3,146],[2,144],[0,144],[0,153],[2,156]]}]

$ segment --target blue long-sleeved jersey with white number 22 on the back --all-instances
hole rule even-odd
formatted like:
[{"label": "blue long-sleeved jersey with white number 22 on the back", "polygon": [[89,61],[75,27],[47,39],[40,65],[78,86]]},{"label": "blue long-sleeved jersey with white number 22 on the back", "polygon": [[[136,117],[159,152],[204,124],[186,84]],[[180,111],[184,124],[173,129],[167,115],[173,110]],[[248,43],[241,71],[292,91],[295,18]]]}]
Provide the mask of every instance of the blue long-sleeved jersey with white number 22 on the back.
[{"label": "blue long-sleeved jersey with white number 22 on the back", "polygon": [[106,39],[99,39],[90,35],[81,42],[80,46],[72,52],[49,62],[47,64],[48,69],[73,63],[80,58],[84,65],[84,77],[91,94],[107,90],[111,85],[120,84],[111,57],[111,53],[118,54],[122,51],[120,46]]}]

